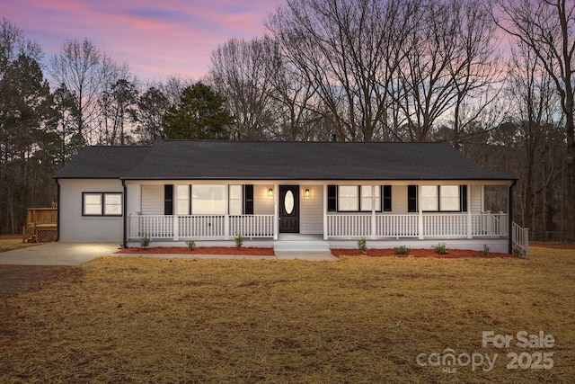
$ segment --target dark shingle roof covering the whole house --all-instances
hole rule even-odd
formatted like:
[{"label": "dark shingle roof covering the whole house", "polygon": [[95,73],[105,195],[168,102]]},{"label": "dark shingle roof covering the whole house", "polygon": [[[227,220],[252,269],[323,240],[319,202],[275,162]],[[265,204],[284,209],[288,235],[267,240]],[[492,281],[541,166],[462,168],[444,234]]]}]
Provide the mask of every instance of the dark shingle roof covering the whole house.
[{"label": "dark shingle roof covering the whole house", "polygon": [[104,174],[128,180],[513,179],[474,165],[447,143],[191,140],[84,148],[57,177]]}]

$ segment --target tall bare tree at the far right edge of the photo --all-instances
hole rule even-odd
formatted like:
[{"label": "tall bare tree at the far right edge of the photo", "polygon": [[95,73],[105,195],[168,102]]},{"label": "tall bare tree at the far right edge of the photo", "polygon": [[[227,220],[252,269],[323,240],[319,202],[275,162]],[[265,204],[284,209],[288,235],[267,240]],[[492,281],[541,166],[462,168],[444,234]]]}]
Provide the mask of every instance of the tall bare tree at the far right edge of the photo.
[{"label": "tall bare tree at the far right edge of the photo", "polygon": [[575,4],[566,0],[495,0],[495,3],[501,14],[500,28],[533,50],[560,96],[568,152],[567,240],[575,241]]}]

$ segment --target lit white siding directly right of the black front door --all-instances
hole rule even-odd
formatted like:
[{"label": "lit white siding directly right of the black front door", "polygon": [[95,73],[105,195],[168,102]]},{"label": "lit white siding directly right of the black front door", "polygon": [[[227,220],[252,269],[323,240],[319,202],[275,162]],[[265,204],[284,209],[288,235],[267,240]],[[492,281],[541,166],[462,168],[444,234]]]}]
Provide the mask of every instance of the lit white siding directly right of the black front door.
[{"label": "lit white siding directly right of the black front door", "polygon": [[[310,197],[305,199],[308,189]],[[301,185],[299,193],[299,232],[305,235],[323,233],[323,185]]]}]

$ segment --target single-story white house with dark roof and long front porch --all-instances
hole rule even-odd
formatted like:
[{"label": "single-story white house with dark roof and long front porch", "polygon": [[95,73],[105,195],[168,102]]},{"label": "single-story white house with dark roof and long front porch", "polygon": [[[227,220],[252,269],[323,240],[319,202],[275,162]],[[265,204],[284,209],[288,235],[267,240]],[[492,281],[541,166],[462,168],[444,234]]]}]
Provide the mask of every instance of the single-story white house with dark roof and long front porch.
[{"label": "single-story white house with dark roof and long front porch", "polygon": [[[511,252],[515,180],[447,143],[159,140],[84,147],[55,176],[58,239],[155,246],[437,245]],[[503,186],[507,212],[485,206]],[[288,243],[293,241],[293,243]]]}]

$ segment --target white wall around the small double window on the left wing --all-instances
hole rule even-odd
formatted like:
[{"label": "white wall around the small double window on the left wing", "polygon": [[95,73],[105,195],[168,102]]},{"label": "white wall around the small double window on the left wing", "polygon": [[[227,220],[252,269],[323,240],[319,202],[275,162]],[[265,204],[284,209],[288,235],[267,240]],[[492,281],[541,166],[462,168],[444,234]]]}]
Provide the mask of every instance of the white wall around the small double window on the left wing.
[{"label": "white wall around the small double window on the left wing", "polygon": [[82,216],[82,192],[123,192],[119,180],[60,179],[60,241],[121,243],[121,217]]}]

